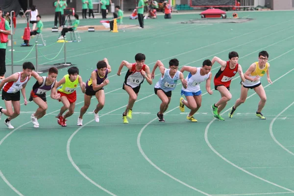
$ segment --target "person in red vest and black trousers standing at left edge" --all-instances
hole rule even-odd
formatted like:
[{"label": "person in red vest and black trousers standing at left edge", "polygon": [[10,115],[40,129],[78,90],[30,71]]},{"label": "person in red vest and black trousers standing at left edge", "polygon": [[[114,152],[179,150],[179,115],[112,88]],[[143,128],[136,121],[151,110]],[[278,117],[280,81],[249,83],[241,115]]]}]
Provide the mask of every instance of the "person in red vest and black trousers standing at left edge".
[{"label": "person in red vest and black trousers standing at left edge", "polygon": [[[10,35],[10,26],[8,21],[6,21],[4,18],[2,18],[2,8],[0,7],[0,23],[4,23],[4,28],[1,27],[0,25],[0,34],[6,34]],[[1,43],[0,42],[0,79],[4,79],[5,72],[6,72],[6,67],[5,67],[5,55],[6,55],[6,43]]]}]

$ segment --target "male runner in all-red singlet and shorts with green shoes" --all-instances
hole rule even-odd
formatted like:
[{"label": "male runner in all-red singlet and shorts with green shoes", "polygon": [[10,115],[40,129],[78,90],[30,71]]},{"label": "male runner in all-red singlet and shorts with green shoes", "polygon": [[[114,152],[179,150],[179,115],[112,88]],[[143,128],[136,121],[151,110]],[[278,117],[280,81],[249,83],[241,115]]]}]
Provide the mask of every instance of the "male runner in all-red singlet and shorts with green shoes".
[{"label": "male runner in all-red singlet and shorts with green shoes", "polygon": [[232,98],[232,95],[229,91],[232,78],[238,72],[240,74],[241,80],[245,81],[242,67],[238,64],[238,59],[238,53],[235,51],[231,51],[229,53],[228,61],[221,60],[219,57],[216,56],[211,61],[212,65],[215,62],[221,64],[221,69],[214,77],[215,90],[218,90],[221,93],[221,99],[211,106],[214,117],[219,119],[220,121],[224,121],[224,119],[220,115],[221,110]]}]

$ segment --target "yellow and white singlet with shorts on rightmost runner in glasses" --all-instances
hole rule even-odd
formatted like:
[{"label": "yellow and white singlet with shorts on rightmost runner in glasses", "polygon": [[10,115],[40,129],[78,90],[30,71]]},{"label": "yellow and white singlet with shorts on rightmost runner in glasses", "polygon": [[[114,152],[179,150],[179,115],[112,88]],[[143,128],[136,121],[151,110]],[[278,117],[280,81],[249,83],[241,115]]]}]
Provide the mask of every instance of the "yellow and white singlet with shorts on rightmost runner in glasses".
[{"label": "yellow and white singlet with shorts on rightmost runner in glasses", "polygon": [[[266,66],[264,69],[260,69],[259,66],[258,66],[258,62],[255,62],[255,70],[254,72],[250,73],[249,74],[249,77],[252,78],[252,80],[258,75],[261,79],[262,76],[264,76],[265,73],[267,73],[268,69],[269,69],[269,64],[266,63]],[[260,82],[260,79],[257,80],[257,81],[250,81],[250,80],[247,80],[245,79],[244,82],[242,82],[243,86],[245,88],[250,88],[250,89],[253,89],[255,87],[258,87],[261,85],[261,82]]]}]

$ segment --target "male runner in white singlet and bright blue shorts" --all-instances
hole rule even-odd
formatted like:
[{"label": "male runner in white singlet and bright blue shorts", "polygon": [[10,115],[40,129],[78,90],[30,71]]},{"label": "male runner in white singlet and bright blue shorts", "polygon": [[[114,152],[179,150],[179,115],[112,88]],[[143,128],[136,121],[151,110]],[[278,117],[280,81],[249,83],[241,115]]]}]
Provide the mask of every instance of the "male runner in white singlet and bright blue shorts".
[{"label": "male runner in white singlet and bright blue shorts", "polygon": [[184,71],[189,72],[186,77],[187,80],[187,89],[182,88],[181,95],[184,95],[187,100],[184,98],[180,98],[180,110],[181,112],[185,111],[185,105],[191,109],[190,113],[187,116],[187,119],[191,122],[197,122],[197,120],[193,117],[193,115],[198,111],[201,107],[202,101],[202,91],[200,90],[200,83],[206,80],[206,91],[209,95],[213,94],[213,91],[210,89],[210,81],[212,78],[211,71],[211,61],[209,59],[204,60],[202,63],[202,67],[190,67],[184,66],[181,69],[181,73]]}]

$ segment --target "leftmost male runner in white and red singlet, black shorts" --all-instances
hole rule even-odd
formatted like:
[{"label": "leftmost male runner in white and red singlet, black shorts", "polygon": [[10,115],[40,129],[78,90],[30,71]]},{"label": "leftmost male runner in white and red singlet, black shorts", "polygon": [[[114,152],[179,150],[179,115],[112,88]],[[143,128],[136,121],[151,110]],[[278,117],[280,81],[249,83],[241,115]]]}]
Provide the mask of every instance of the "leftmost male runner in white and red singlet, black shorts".
[{"label": "leftmost male runner in white and red singlet, black shorts", "polygon": [[3,79],[0,83],[0,89],[4,86],[2,89],[2,100],[4,100],[6,106],[6,109],[0,107],[0,119],[2,114],[8,116],[8,118],[5,119],[4,124],[6,124],[9,129],[14,129],[10,121],[18,117],[21,112],[20,91],[22,91],[25,99],[25,105],[27,104],[25,86],[27,81],[30,79],[33,70],[35,70],[34,65],[31,62],[25,62],[23,64],[22,72],[13,73],[9,77]]}]

